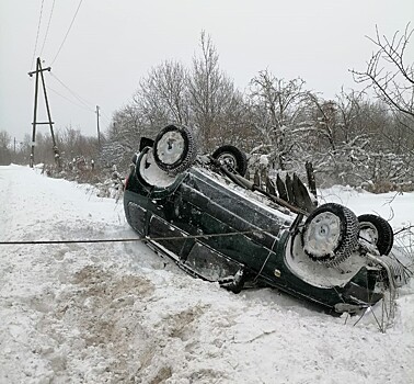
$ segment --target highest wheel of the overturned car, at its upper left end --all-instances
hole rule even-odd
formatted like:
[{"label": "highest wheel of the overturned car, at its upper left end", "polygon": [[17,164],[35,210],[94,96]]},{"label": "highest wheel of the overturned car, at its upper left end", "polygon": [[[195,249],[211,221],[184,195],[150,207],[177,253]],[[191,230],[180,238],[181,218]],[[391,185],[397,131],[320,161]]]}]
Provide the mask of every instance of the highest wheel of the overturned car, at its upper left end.
[{"label": "highest wheel of the overturned car, at its upper left end", "polygon": [[197,157],[197,145],[184,125],[168,125],[153,143],[153,158],[160,169],[177,174],[188,169]]}]

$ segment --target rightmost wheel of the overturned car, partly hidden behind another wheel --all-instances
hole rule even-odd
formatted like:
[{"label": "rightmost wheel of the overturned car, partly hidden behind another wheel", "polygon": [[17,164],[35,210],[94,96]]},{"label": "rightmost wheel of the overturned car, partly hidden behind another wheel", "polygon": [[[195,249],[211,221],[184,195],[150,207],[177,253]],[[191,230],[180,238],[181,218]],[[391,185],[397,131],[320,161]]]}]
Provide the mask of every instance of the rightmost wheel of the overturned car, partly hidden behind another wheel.
[{"label": "rightmost wheel of the overturned car, partly hidden behind another wheel", "polygon": [[370,230],[370,236],[375,241],[380,255],[389,255],[394,244],[394,233],[391,225],[381,216],[377,215],[360,215],[358,216],[360,236],[364,236],[364,230]]}]

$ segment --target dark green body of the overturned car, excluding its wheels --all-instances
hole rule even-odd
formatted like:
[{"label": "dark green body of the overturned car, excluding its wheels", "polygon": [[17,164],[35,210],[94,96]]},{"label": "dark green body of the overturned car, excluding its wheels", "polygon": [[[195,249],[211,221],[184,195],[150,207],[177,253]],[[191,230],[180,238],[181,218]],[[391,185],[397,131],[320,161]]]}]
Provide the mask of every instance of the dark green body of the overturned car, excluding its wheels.
[{"label": "dark green body of the overturned car, excluding its wheels", "polygon": [[[242,271],[245,286],[277,287],[327,308],[342,302],[372,304],[382,297],[368,284],[378,271],[363,264],[333,284],[307,279],[311,273],[298,268],[303,255],[295,234],[296,216],[286,208],[265,203],[256,193],[197,166],[171,178],[166,187],[151,185],[142,177],[146,154],[148,147],[128,178],[124,194],[127,221],[186,272],[226,286]],[[317,267],[326,269],[312,266]]]}]

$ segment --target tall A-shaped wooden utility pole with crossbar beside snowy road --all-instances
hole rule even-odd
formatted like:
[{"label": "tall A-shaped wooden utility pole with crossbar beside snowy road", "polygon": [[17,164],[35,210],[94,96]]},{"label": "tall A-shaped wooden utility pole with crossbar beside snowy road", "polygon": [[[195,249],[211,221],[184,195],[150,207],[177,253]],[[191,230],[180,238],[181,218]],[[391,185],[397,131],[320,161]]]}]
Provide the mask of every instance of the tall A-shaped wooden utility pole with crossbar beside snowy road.
[{"label": "tall A-shaped wooden utility pole with crossbar beside snowy road", "polygon": [[[32,126],[33,126],[33,131],[32,131],[32,150],[31,150],[31,159],[30,159],[30,167],[31,168],[33,168],[33,165],[34,165],[34,147],[35,147],[35,142],[36,142],[36,126],[41,125],[41,124],[47,124],[50,127],[51,140],[54,143],[54,148],[53,149],[54,149],[54,153],[55,153],[55,161],[56,161],[56,163],[57,163],[57,166],[59,168],[61,167],[61,165],[60,165],[60,154],[59,154],[59,150],[57,148],[56,140],[55,140],[55,133],[54,133],[54,124],[55,123],[51,121],[49,102],[48,102],[48,99],[47,99],[47,92],[46,92],[46,86],[45,86],[45,78],[43,76],[43,72],[45,70],[50,71],[50,69],[51,69],[50,67],[42,68],[41,58],[37,57],[37,60],[36,60],[36,70],[28,72],[30,77],[32,77],[33,75],[36,75],[35,100],[34,100],[33,123],[32,123]],[[38,78],[39,77],[41,77],[41,80],[42,80],[43,94],[44,94],[44,98],[45,98],[46,112],[47,112],[47,118],[48,118],[48,121],[44,122],[44,123],[37,122],[37,99],[38,99]]]}]

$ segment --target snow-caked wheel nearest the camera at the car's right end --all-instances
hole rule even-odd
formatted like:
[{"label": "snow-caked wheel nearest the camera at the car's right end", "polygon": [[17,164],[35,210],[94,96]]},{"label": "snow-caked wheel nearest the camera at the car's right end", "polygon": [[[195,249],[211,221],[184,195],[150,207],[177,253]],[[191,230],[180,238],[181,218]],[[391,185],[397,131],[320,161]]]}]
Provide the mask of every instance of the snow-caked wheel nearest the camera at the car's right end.
[{"label": "snow-caked wheel nearest the camera at the car's right end", "polygon": [[347,207],[327,203],[315,208],[302,230],[304,253],[314,261],[333,267],[358,247],[359,223]]}]

